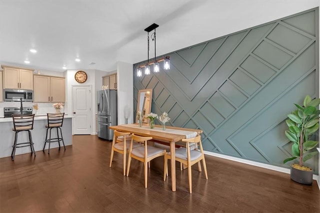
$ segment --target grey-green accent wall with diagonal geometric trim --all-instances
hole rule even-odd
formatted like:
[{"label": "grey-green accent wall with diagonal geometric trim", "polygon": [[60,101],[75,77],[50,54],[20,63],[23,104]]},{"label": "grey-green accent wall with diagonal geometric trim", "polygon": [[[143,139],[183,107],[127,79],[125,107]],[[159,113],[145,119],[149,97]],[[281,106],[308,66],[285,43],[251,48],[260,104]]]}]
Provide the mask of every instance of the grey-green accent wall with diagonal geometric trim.
[{"label": "grey-green accent wall with diagonal geometric trim", "polygon": [[[153,88],[151,111],[202,129],[206,151],[289,167],[286,115],[318,97],[318,26],[317,7],[168,53],[167,71],[136,77],[146,61],[134,64],[134,111],[138,90]],[[318,157],[306,165],[318,173]]]}]

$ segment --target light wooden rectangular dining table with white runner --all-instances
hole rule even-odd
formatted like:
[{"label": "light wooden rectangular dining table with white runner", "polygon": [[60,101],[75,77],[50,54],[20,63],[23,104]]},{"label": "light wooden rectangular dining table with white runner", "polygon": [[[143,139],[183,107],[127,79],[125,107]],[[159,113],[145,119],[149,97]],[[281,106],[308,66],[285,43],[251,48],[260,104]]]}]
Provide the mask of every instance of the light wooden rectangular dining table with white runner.
[{"label": "light wooden rectangular dining table with white runner", "polygon": [[158,140],[160,142],[166,142],[170,144],[170,156],[171,156],[171,184],[172,184],[172,191],[175,191],[176,184],[175,184],[175,143],[180,141],[183,138],[186,138],[185,134],[180,133],[173,133],[174,131],[170,132],[170,129],[177,130],[177,131],[189,131],[190,133],[202,133],[201,129],[192,129],[192,128],[181,128],[175,126],[166,126],[166,130],[159,130],[161,129],[161,125],[155,125],[155,128],[149,128],[147,123],[143,123],[142,127],[136,124],[121,124],[121,125],[114,125],[109,126],[110,129],[122,131],[122,132],[130,132],[140,136],[151,136],[153,140]]}]

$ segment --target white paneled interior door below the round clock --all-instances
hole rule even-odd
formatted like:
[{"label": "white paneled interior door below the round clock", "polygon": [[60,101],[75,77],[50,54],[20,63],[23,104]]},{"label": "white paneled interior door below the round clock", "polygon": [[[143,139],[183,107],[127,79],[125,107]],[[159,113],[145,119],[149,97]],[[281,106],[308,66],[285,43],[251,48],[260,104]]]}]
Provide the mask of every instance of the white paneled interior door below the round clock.
[{"label": "white paneled interior door below the round clock", "polygon": [[91,134],[91,85],[72,86],[73,134]]}]

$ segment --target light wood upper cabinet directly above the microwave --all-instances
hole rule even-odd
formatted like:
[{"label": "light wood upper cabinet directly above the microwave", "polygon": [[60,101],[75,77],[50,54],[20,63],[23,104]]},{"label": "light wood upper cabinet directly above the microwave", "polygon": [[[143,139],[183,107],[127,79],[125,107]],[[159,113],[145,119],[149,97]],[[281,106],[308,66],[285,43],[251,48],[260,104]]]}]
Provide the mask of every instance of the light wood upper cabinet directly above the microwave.
[{"label": "light wood upper cabinet directly above the microwave", "polygon": [[33,69],[3,67],[3,88],[33,89]]}]

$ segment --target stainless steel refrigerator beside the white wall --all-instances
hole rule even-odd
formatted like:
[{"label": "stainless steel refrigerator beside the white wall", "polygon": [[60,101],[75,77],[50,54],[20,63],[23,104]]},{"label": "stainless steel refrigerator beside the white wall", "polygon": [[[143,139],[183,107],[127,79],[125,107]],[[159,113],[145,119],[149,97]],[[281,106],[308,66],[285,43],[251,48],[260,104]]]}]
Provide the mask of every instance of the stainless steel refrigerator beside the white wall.
[{"label": "stainless steel refrigerator beside the white wall", "polygon": [[117,125],[117,93],[114,89],[97,91],[97,135],[112,140],[113,130],[109,126]]}]

